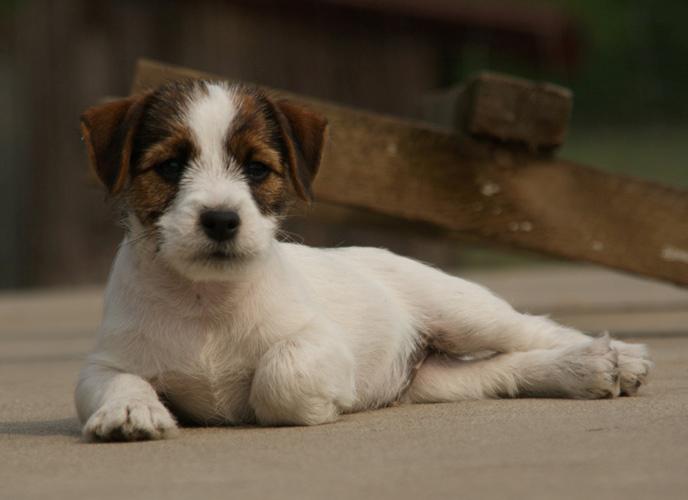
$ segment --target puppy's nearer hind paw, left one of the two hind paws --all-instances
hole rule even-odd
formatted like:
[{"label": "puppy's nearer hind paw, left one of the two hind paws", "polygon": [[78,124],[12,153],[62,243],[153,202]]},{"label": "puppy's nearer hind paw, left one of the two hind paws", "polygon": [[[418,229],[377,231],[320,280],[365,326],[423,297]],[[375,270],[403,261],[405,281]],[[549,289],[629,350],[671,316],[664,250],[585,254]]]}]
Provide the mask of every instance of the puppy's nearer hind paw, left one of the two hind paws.
[{"label": "puppy's nearer hind paw, left one of the two hind paws", "polygon": [[620,394],[619,356],[608,335],[567,348],[560,363],[569,397],[600,399]]}]

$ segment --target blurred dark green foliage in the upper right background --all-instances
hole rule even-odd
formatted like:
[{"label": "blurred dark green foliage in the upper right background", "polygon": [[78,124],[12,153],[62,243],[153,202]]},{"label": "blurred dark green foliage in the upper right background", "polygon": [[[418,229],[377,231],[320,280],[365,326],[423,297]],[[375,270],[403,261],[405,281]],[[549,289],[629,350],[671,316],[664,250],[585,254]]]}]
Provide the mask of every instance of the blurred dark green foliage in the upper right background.
[{"label": "blurred dark green foliage in the upper right background", "polygon": [[550,0],[582,28],[582,58],[571,74],[532,61],[466,47],[458,81],[480,69],[559,82],[576,97],[574,119],[585,124],[676,123],[688,119],[688,2],[685,0]]}]

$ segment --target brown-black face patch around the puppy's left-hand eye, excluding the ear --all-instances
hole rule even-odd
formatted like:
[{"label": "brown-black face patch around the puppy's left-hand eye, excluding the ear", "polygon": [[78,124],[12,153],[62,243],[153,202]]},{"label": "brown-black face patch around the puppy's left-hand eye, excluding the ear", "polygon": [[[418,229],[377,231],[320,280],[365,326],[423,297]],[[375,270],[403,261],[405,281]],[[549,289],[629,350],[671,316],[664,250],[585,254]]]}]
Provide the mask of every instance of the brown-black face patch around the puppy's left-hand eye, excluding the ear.
[{"label": "brown-black face patch around the puppy's left-hand eye, excluding the ear", "polygon": [[204,89],[194,81],[165,85],[153,93],[144,110],[134,139],[131,184],[126,192],[128,206],[144,225],[155,224],[179,190],[176,176],[161,175],[165,163],[176,162],[181,178],[198,153],[182,113],[190,96]]}]

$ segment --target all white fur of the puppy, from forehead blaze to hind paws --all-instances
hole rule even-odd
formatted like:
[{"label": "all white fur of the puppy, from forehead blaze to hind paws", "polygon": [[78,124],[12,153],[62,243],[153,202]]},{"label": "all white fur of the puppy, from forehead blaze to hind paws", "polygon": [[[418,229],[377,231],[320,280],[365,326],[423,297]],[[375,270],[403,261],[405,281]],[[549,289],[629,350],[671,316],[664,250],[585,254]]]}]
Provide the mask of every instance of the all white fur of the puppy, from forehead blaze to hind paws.
[{"label": "all white fur of the puppy, from forehead blaze to hind paws", "polygon": [[[187,110],[203,153],[140,239],[134,216],[106,290],[97,346],[76,390],[84,433],[161,438],[178,416],[208,424],[320,424],[405,402],[632,393],[651,366],[643,346],[590,337],[517,313],[484,288],[385,250],[278,243],[224,153],[232,90]],[[222,131],[222,132],[221,132]],[[207,207],[242,219],[226,264],[198,259]],[[159,244],[159,247],[157,246]],[[433,354],[403,391],[409,364]],[[488,358],[465,355],[489,351]],[[464,357],[462,357],[464,356]]]}]

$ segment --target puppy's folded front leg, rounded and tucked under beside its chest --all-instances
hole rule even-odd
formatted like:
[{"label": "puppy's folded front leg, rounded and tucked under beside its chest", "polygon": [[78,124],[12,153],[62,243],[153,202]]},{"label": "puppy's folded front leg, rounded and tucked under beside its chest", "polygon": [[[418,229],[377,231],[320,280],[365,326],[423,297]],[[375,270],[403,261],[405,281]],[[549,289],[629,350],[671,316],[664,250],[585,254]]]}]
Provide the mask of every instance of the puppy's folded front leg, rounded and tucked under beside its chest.
[{"label": "puppy's folded front leg, rounded and tucked under beside its chest", "polygon": [[250,404],[262,425],[317,425],[351,408],[354,392],[350,349],[325,327],[282,340],[265,353]]}]

